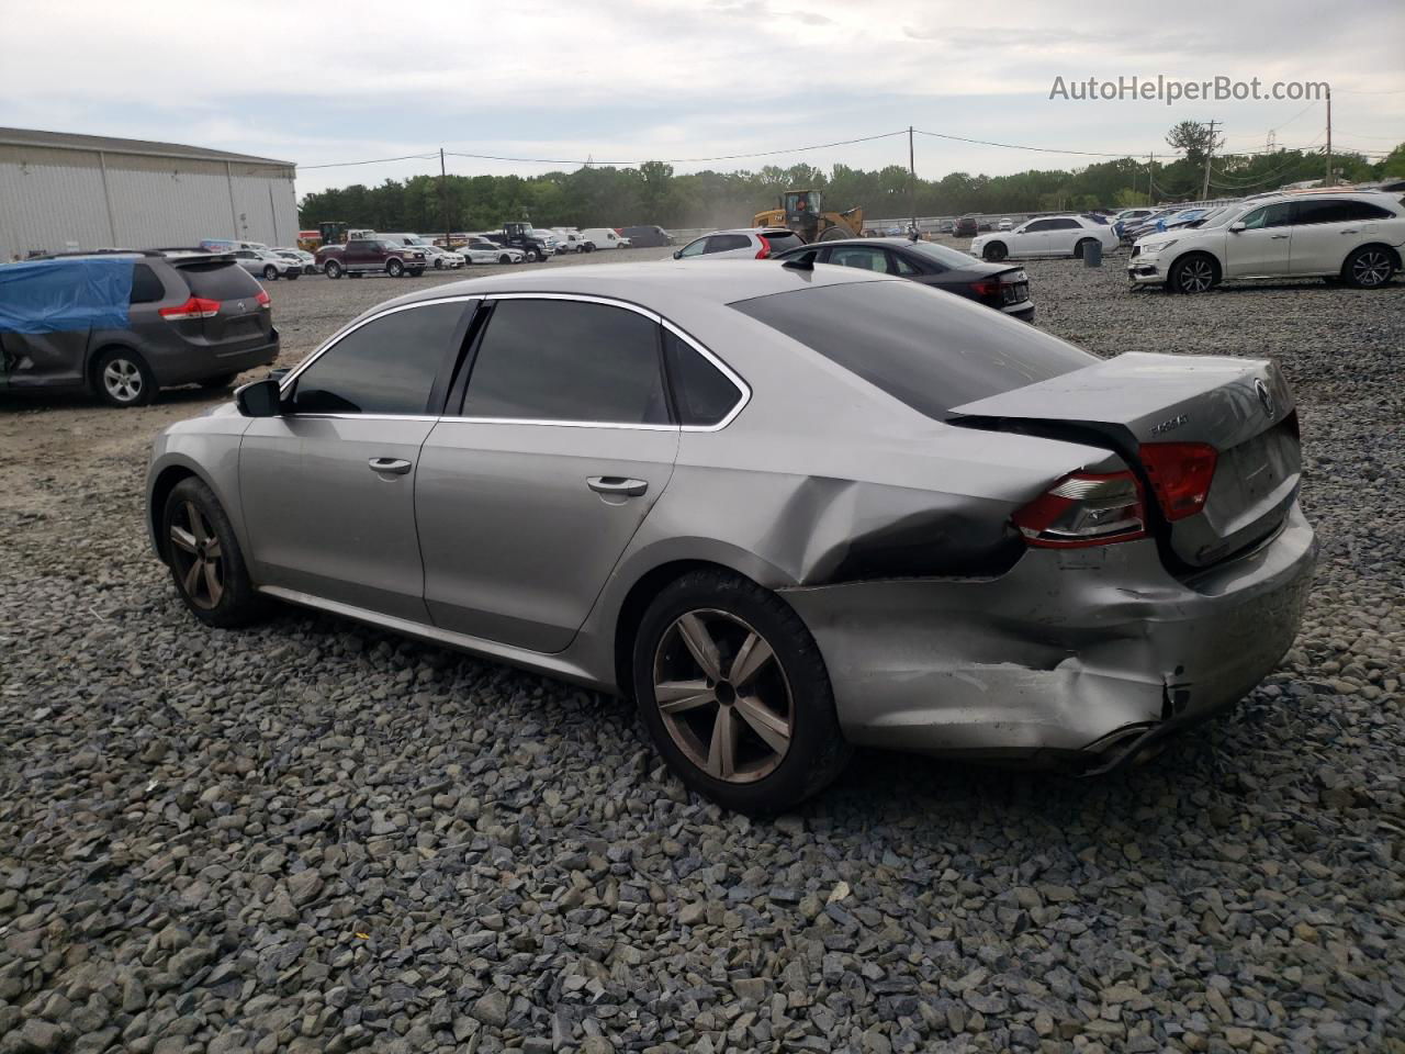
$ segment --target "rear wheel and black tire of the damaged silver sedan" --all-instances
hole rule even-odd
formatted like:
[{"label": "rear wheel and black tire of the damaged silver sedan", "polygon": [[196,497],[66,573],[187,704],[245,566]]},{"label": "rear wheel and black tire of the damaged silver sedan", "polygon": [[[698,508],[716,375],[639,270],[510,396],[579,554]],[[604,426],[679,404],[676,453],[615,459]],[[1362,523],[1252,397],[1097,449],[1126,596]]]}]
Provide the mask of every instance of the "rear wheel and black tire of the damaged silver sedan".
[{"label": "rear wheel and black tire of the damaged silver sedan", "polygon": [[695,571],[667,586],[639,624],[632,669],[659,753],[726,808],[787,809],[849,762],[815,638],[745,578]]}]

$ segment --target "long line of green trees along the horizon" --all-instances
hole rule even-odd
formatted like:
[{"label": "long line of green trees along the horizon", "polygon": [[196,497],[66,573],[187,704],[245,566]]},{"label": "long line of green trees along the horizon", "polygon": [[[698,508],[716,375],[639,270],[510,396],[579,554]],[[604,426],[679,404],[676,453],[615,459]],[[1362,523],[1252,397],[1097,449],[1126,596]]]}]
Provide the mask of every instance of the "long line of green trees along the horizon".
[{"label": "long line of green trees along the horizon", "polygon": [[[1179,128],[1179,126],[1177,126]],[[1176,129],[1172,131],[1176,139]],[[639,167],[586,166],[541,176],[412,176],[378,187],[354,184],[308,194],[299,202],[303,228],[341,221],[377,230],[488,230],[504,221],[537,226],[663,228],[739,226],[774,208],[781,191],[818,187],[826,209],[861,205],[870,219],[951,216],[965,212],[1045,212],[1118,208],[1200,198],[1205,143],[1183,139],[1186,156],[1155,164],[1121,157],[1073,170],[1031,169],[1012,176],[954,171],[940,180],[910,180],[898,164],[868,171],[835,164],[766,166],[757,171],[674,173],[670,164]],[[1321,178],[1319,153],[1279,150],[1262,155],[1214,155],[1211,197],[1242,197],[1287,183]],[[1333,170],[1347,181],[1405,177],[1405,143],[1371,163],[1361,155],[1333,156]]]}]

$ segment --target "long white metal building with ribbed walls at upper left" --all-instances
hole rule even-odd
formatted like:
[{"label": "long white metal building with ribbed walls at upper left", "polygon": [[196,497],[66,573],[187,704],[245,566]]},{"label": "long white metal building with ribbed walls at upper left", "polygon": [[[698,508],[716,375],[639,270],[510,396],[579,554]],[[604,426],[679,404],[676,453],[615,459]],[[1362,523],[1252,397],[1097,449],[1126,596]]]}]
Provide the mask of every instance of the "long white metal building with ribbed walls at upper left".
[{"label": "long white metal building with ribbed walls at upper left", "polygon": [[66,249],[292,246],[295,166],[200,146],[0,128],[0,261]]}]

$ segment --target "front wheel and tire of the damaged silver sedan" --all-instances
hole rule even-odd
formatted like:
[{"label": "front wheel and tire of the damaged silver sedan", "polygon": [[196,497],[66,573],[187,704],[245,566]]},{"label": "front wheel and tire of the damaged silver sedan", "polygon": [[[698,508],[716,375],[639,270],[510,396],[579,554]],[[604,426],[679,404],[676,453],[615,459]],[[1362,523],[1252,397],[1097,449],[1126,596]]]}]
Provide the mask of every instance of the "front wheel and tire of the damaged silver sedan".
[{"label": "front wheel and tire of the damaged silver sedan", "polygon": [[267,604],[249,578],[235,530],[204,481],[185,476],[176,483],[160,523],[171,580],[192,616],[219,628],[263,616]]}]

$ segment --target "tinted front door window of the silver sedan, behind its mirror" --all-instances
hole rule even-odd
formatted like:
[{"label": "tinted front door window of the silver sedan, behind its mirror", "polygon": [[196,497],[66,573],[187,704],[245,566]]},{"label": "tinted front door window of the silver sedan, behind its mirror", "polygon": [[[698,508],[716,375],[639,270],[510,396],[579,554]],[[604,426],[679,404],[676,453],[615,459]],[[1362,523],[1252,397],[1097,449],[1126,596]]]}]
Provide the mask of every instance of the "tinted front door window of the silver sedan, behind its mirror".
[{"label": "tinted front door window of the silver sedan, behind its mirror", "polygon": [[424,413],[462,304],[409,308],[351,330],[299,377],[299,413]]}]

